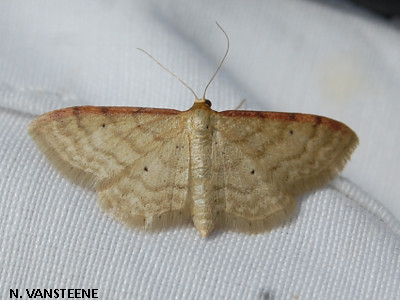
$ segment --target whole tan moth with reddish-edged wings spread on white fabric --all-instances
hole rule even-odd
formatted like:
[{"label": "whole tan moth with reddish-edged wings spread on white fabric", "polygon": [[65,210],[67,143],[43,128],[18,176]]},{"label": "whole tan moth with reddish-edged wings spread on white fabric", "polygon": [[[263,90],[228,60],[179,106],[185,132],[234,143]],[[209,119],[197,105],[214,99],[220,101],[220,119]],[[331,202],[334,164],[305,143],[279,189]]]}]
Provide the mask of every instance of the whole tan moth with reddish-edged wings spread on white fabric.
[{"label": "whole tan moth with reddish-edged wings spread on white fabric", "polygon": [[328,118],[210,105],[197,99],[183,112],[72,107],[38,117],[29,132],[122,222],[154,229],[191,218],[202,236],[216,225],[276,226],[291,216],[297,195],[344,167],[358,143]]}]

